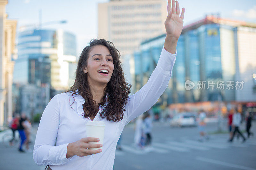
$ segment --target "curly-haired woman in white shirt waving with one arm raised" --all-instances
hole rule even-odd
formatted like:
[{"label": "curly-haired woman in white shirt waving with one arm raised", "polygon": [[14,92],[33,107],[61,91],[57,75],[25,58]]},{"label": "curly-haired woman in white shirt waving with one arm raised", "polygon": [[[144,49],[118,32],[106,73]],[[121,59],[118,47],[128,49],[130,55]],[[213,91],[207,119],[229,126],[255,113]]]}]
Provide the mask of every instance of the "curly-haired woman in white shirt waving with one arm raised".
[{"label": "curly-haired woman in white shirt waving with one arm raised", "polygon": [[[53,170],[113,169],[116,143],[124,126],[156,103],[171,78],[185,11],[183,8],[180,15],[178,1],[176,6],[177,10],[175,1],[172,7],[168,1],[164,48],[148,83],[134,95],[128,96],[130,85],[124,79],[120,53],[111,42],[92,40],[84,48],[74,85],[54,96],[44,110],[33,153],[37,165],[50,165]],[[89,120],[106,124],[102,150],[87,149],[101,147],[88,144],[97,138],[85,138]]]}]

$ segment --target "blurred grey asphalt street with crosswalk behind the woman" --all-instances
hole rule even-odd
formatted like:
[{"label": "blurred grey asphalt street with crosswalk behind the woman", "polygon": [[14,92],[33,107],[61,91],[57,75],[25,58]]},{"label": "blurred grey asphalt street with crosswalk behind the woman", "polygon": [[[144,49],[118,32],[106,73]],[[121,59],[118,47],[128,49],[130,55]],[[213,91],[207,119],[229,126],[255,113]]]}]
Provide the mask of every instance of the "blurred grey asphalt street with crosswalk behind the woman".
[{"label": "blurred grey asphalt street with crosswalk behind the woman", "polygon": [[[171,128],[167,123],[154,122],[152,147],[144,151],[133,146],[134,124],[125,126],[122,133],[122,151],[116,151],[114,169],[246,169],[256,170],[255,136],[241,144],[242,138],[228,143],[228,134],[211,134],[217,130],[217,123],[208,123],[208,141],[199,142],[197,127]],[[244,124],[241,126],[244,130]],[[226,130],[226,129],[224,129]],[[256,134],[256,123],[252,122]],[[34,129],[34,133],[36,129]],[[3,132],[0,133],[2,140]],[[246,134],[244,133],[246,136]],[[17,148],[0,145],[0,164],[3,170],[43,170],[32,158],[33,153],[19,153]]]}]

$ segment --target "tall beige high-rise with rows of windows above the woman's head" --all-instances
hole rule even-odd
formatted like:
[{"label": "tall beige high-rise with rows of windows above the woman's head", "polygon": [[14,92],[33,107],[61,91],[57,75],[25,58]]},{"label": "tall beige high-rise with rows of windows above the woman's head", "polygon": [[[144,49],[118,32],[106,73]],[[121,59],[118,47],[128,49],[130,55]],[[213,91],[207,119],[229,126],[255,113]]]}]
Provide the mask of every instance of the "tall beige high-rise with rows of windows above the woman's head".
[{"label": "tall beige high-rise with rows of windows above the woman's head", "polygon": [[99,38],[114,43],[123,57],[138,50],[140,42],[165,32],[164,0],[112,0],[98,4]]}]

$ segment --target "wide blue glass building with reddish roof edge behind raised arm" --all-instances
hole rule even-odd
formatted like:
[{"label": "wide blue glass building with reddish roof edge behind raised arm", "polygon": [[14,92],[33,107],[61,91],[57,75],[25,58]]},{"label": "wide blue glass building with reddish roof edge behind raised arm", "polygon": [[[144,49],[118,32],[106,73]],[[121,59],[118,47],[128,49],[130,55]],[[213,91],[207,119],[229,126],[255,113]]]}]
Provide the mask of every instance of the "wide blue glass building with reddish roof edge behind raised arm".
[{"label": "wide blue glass building with reddish roof edge behind raised arm", "polygon": [[[156,67],[166,34],[134,53],[136,90]],[[162,96],[170,103],[256,101],[256,24],[214,16],[183,27],[172,78]],[[193,89],[185,88],[189,80]],[[161,101],[161,100],[160,100]]]}]

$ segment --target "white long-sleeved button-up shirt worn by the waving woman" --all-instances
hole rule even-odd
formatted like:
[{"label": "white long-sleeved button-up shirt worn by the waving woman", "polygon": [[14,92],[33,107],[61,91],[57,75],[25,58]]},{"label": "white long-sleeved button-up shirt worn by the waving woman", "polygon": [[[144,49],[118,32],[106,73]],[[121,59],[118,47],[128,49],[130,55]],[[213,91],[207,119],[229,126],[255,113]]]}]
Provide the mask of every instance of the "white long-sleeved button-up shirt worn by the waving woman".
[{"label": "white long-sleeved button-up shirt worn by the waving woman", "polygon": [[[33,159],[37,165],[50,165],[52,170],[111,170],[113,169],[116,143],[124,126],[131,120],[150,109],[163,94],[172,74],[176,54],[162,49],[159,61],[147,84],[137,93],[129,96],[124,106],[124,117],[121,121],[101,119],[99,112],[93,120],[104,121],[105,134],[102,152],[84,157],[67,155],[67,145],[86,136],[85,124],[89,117],[81,116],[84,113],[82,96],[71,93],[61,93],[52,98],[46,106],[36,134]],[[74,103],[73,103],[74,102]],[[73,103],[73,104],[72,104]],[[71,108],[70,107],[70,104]],[[106,100],[107,104],[107,100]],[[56,146],[54,146],[55,139]]]}]

